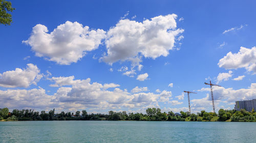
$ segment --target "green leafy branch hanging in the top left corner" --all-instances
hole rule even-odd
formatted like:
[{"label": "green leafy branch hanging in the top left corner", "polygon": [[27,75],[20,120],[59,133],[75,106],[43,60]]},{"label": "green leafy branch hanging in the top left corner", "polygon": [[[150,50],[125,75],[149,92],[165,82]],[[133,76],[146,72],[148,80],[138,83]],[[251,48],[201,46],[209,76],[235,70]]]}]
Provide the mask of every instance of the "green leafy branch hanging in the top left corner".
[{"label": "green leafy branch hanging in the top left corner", "polygon": [[5,0],[0,0],[0,23],[10,25],[12,22],[12,15],[7,12],[15,10],[12,8],[12,3]]}]

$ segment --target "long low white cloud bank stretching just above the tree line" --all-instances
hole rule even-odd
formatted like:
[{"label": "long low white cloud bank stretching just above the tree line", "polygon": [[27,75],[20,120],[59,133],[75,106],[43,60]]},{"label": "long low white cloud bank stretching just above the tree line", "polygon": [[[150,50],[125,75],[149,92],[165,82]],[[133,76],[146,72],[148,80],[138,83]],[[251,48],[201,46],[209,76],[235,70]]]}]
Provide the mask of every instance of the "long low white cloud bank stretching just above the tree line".
[{"label": "long low white cloud bank stretching just above the tree line", "polygon": [[[131,94],[126,89],[121,90],[119,84],[98,82],[91,83],[91,79],[74,80],[74,76],[48,78],[54,82],[55,87],[59,87],[53,95],[46,94],[46,91],[39,89],[32,90],[0,90],[0,105],[10,109],[53,109],[56,110],[105,110],[119,108],[139,108],[160,107],[158,102],[168,102],[172,92],[163,91],[160,94],[143,93],[148,91],[146,87],[135,88]],[[62,87],[67,85],[69,87]],[[108,90],[115,88],[114,90]],[[137,90],[137,91],[135,91]],[[171,101],[172,105],[181,102]]]}]

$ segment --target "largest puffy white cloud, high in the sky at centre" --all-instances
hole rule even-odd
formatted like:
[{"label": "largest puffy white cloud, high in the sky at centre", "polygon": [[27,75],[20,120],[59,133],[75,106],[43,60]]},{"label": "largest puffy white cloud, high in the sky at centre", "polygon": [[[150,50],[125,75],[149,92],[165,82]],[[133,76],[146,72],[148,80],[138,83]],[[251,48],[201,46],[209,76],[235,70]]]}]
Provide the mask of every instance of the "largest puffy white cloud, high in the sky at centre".
[{"label": "largest puffy white cloud, high in the sky at centre", "polygon": [[102,60],[109,64],[117,61],[134,63],[133,59],[139,55],[152,59],[167,56],[174,47],[175,37],[184,31],[176,29],[176,18],[177,15],[169,14],[143,22],[121,19],[107,33],[108,52]]}]

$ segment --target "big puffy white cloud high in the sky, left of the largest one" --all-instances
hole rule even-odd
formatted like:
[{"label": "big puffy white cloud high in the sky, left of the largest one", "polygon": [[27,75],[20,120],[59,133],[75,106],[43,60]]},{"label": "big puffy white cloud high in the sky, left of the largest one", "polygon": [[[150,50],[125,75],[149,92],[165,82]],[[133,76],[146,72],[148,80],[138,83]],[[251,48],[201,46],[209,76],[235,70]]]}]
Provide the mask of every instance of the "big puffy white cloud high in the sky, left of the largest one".
[{"label": "big puffy white cloud high in the sky, left of the largest one", "polygon": [[87,51],[97,49],[103,38],[103,30],[90,30],[78,22],[67,21],[50,34],[45,25],[37,24],[29,39],[23,43],[30,45],[36,56],[69,65],[80,60]]}]

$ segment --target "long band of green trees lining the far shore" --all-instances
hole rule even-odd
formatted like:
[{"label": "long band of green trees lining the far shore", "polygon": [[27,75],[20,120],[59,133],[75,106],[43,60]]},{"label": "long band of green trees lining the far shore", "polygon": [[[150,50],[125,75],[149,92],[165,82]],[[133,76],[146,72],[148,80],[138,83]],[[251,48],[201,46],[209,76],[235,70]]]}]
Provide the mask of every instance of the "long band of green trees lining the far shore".
[{"label": "long band of green trees lining the far shore", "polygon": [[147,108],[146,113],[126,113],[126,111],[109,111],[109,114],[87,113],[86,110],[74,112],[55,113],[55,109],[46,112],[14,109],[9,112],[8,108],[0,108],[0,120],[4,121],[65,121],[65,120],[109,120],[109,121],[232,121],[232,122],[256,122],[256,112],[245,109],[224,110],[220,109],[218,115],[213,112],[202,110],[197,114],[180,111],[161,112],[160,108]]}]

